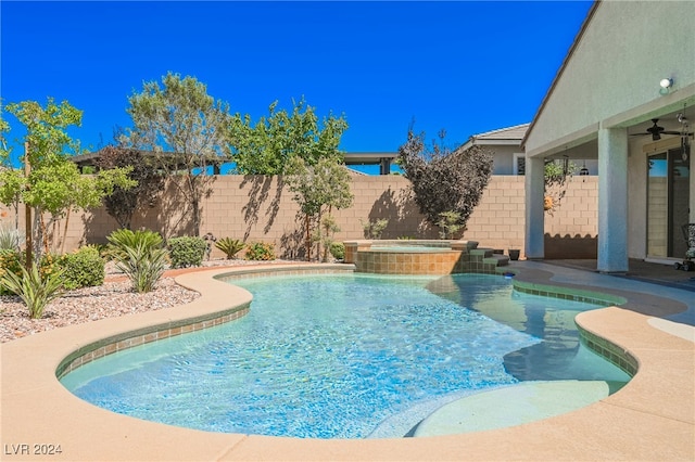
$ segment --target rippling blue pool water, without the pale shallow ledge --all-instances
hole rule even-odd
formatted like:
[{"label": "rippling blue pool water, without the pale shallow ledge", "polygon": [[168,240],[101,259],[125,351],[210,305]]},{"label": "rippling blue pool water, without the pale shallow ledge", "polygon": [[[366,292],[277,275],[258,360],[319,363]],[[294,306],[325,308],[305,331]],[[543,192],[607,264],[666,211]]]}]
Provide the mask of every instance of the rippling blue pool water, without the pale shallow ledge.
[{"label": "rippling blue pool water, without the pale shallow ledge", "polygon": [[403,436],[439,406],[522,380],[628,376],[579,344],[595,306],[495,275],[235,280],[237,321],[143,345],[62,378],[78,397],[191,428],[315,438]]}]

